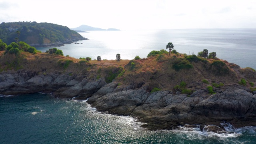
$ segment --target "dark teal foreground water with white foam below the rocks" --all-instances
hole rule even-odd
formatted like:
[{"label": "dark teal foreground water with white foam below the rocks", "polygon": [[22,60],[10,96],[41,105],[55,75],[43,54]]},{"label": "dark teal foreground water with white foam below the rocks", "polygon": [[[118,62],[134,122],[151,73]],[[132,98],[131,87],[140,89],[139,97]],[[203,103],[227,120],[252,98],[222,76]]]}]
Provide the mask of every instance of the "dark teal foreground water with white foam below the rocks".
[{"label": "dark teal foreground water with white foam below the rocks", "polygon": [[50,94],[0,96],[0,144],[252,144],[256,128],[229,134],[199,128],[148,131],[127,116],[101,114],[86,101],[66,101]]}]

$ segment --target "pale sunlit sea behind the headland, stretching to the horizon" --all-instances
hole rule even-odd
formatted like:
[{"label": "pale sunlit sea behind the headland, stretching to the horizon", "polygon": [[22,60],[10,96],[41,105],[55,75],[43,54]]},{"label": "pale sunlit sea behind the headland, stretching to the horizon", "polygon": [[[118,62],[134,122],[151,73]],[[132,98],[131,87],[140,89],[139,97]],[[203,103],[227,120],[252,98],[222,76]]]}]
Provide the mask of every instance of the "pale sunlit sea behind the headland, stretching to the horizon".
[{"label": "pale sunlit sea behind the headland, stretching to the horizon", "polygon": [[[84,38],[79,44],[58,47],[64,56],[74,58],[132,60],[135,56],[146,58],[152,50],[166,50],[168,42],[180,53],[197,54],[208,49],[218,58],[240,67],[256,69],[256,29],[174,29],[174,30],[121,30],[88,31],[80,33]],[[49,48],[37,48],[46,52]],[[168,50],[167,50],[168,51]]]}]

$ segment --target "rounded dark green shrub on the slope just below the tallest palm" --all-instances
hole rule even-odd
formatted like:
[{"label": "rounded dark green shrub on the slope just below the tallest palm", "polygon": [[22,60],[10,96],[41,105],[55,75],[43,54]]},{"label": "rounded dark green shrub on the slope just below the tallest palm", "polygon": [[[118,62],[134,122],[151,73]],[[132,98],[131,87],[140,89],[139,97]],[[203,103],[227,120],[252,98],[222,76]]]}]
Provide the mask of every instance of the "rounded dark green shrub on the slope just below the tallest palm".
[{"label": "rounded dark green shrub on the slope just below the tallest palm", "polygon": [[172,68],[174,68],[174,70],[179,71],[179,70],[184,70],[184,69],[190,69],[190,68],[194,68],[194,66],[192,64],[190,64],[190,62],[188,60],[186,60],[185,58],[177,58],[173,65]]}]

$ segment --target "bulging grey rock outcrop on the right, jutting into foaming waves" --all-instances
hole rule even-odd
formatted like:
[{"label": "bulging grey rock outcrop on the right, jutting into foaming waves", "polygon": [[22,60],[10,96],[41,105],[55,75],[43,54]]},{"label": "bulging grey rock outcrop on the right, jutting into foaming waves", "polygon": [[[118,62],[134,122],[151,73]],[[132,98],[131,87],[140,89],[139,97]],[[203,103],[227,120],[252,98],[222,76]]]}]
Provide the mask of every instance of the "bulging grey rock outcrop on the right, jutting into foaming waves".
[{"label": "bulging grey rock outcrop on the right, jutting into foaming waves", "polygon": [[181,123],[215,124],[227,121],[236,126],[254,125],[256,97],[252,93],[234,88],[211,96],[198,90],[193,97],[159,91],[150,94],[144,89],[124,90],[105,95],[94,95],[88,103],[99,111],[131,115],[146,122],[147,128],[172,129]]}]

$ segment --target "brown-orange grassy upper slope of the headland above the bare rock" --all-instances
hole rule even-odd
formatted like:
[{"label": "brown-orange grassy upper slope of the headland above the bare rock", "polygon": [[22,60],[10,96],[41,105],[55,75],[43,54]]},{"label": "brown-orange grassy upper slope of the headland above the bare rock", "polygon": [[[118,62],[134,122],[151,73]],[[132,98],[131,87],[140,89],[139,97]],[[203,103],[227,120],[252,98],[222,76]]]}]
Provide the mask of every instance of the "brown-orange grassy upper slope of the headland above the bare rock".
[{"label": "brown-orange grassy upper slope of the headland above the bare rock", "polygon": [[227,86],[240,84],[255,91],[256,72],[252,68],[240,68],[218,58],[202,58],[186,54],[153,54],[136,60],[84,60],[48,53],[4,54],[0,51],[0,71],[27,70],[37,75],[52,72],[79,75],[90,80],[104,78],[107,83],[115,80],[118,87],[147,85],[147,91],[158,90],[192,94],[206,89],[213,94]]}]

